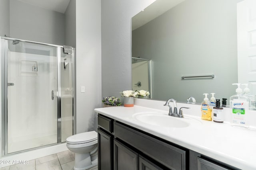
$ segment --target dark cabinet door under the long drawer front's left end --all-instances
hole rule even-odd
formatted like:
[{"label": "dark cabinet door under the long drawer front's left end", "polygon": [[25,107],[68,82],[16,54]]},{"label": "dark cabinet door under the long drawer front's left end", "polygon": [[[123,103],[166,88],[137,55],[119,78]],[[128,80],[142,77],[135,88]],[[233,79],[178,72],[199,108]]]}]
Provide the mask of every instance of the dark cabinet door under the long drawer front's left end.
[{"label": "dark cabinet door under the long drawer front's left end", "polygon": [[114,170],[138,170],[138,154],[115,139]]}]

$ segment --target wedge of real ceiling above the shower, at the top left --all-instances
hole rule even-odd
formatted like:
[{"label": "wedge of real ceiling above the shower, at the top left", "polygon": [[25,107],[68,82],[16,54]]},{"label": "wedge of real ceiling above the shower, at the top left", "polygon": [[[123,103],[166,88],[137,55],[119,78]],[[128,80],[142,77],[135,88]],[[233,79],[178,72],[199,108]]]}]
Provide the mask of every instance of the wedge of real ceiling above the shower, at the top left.
[{"label": "wedge of real ceiling above the shower, at the top left", "polygon": [[34,6],[65,13],[70,0],[20,0]]}]

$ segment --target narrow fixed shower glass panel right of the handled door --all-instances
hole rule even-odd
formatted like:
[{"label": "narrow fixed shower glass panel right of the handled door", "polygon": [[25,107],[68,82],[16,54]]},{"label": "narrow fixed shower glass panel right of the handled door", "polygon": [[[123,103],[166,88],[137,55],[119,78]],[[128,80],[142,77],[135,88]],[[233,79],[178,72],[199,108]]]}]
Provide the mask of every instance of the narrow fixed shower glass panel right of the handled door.
[{"label": "narrow fixed shower glass panel right of the handled door", "polygon": [[[72,136],[73,131],[73,56],[61,48],[61,142]],[[74,54],[74,52],[73,52]]]}]

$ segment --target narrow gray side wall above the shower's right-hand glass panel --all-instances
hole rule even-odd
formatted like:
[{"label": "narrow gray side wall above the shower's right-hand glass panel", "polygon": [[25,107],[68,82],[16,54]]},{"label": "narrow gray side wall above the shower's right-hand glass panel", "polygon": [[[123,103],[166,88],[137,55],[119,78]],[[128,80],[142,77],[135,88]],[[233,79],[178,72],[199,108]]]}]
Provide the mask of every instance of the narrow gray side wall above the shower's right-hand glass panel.
[{"label": "narrow gray side wall above the shower's right-hand glass panel", "polygon": [[70,0],[65,12],[65,45],[76,47],[76,0]]}]

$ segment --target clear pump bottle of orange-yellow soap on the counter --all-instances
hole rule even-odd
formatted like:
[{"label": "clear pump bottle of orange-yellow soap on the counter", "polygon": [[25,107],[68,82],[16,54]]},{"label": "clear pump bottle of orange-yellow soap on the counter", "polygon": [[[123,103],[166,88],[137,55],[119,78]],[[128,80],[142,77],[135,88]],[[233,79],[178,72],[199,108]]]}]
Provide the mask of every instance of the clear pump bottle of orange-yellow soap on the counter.
[{"label": "clear pump bottle of orange-yellow soap on the counter", "polygon": [[201,112],[203,120],[212,121],[212,106],[209,102],[209,99],[207,98],[207,93],[204,93],[205,98],[204,101],[201,103]]}]

